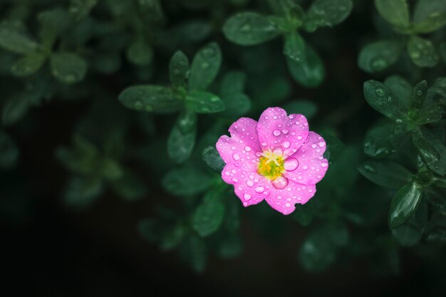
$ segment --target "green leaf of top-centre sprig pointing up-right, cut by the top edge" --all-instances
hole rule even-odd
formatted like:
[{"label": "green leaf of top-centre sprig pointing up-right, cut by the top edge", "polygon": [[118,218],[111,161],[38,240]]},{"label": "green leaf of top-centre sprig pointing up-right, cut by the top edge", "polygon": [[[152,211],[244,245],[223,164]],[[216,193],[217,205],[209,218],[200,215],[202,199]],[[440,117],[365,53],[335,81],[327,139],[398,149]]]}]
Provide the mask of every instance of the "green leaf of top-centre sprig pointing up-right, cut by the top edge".
[{"label": "green leaf of top-centre sprig pointing up-right, cut by the top edge", "polygon": [[305,29],[313,32],[318,27],[341,24],[353,9],[351,0],[316,0],[306,13]]}]

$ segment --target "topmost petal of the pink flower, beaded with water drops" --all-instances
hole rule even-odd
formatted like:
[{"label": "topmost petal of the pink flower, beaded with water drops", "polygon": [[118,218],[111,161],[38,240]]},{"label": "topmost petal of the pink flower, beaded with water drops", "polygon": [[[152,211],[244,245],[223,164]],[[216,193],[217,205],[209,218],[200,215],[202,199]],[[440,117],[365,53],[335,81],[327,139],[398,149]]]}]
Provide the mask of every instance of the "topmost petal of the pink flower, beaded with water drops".
[{"label": "topmost petal of the pink flower, beaded with water drops", "polygon": [[281,146],[289,157],[308,137],[308,122],[304,115],[286,116],[282,108],[268,108],[260,115],[257,133],[263,150]]}]

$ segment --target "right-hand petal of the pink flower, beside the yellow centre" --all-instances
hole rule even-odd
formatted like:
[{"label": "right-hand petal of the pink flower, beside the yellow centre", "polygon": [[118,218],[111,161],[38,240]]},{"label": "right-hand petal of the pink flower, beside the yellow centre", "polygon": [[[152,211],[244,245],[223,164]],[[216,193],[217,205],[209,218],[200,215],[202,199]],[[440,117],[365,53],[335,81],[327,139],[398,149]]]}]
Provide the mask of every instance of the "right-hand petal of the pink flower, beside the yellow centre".
[{"label": "right-hand petal of the pink flower, beside the yellow centre", "polygon": [[[299,161],[296,170],[285,171],[284,176],[289,180],[299,182],[300,184],[316,184],[328,170],[328,161],[323,158],[323,152],[326,150],[326,142],[317,133],[310,131],[308,142],[305,142],[301,148],[291,156]],[[287,162],[285,160],[285,162]]]}]

